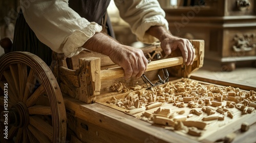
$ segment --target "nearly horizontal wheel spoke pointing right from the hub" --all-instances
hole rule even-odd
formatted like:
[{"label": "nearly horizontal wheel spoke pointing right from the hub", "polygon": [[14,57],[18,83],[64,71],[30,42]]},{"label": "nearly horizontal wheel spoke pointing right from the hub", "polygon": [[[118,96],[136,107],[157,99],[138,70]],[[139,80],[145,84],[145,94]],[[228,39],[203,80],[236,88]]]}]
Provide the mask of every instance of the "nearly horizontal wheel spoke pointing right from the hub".
[{"label": "nearly horizontal wheel spoke pointing right from the hub", "polygon": [[51,107],[35,105],[28,108],[29,114],[52,115]]}]

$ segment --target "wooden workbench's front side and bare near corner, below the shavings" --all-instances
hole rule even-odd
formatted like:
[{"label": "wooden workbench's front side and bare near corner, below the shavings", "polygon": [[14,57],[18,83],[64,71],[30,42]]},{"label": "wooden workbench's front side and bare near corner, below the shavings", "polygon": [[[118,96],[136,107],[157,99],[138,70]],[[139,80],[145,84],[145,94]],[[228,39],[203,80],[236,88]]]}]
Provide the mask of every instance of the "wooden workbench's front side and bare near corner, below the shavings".
[{"label": "wooden workbench's front side and bare near corner, below the shavings", "polygon": [[[250,86],[245,87],[255,90]],[[230,120],[223,127],[212,128],[216,130],[211,130],[206,137],[198,139],[177,131],[166,130],[162,126],[142,121],[99,103],[88,105],[65,96],[64,100],[66,108],[70,109],[67,116],[72,116],[72,121],[68,121],[68,127],[74,127],[72,130],[75,134],[67,137],[70,136],[72,142],[215,142],[223,141],[225,136],[231,133],[236,134],[234,142],[256,140],[255,110],[252,114],[243,115],[242,119]],[[251,126],[247,132],[242,133],[240,128],[244,122]]]}]

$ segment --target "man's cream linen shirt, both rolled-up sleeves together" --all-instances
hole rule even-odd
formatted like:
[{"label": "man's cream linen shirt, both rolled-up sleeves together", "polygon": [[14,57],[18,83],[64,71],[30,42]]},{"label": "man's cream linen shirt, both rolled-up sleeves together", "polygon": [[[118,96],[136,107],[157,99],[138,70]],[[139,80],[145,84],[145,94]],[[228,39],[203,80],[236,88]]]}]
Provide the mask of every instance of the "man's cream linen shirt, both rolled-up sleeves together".
[{"label": "man's cream linen shirt, both rolled-up sleeves together", "polygon": [[[157,41],[145,33],[151,26],[168,30],[165,13],[156,0],[115,0],[115,4],[137,39],[144,43]],[[36,37],[67,57],[79,54],[84,50],[81,46],[102,30],[96,22],[89,22],[72,10],[68,0],[20,0],[20,6]]]}]

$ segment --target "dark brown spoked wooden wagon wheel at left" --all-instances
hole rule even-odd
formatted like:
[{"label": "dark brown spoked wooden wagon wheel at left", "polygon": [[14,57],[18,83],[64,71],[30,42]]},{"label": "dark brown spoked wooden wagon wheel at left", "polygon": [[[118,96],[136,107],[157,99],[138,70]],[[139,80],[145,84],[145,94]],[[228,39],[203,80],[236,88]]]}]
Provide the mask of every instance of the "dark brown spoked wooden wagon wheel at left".
[{"label": "dark brown spoked wooden wagon wheel at left", "polygon": [[65,142],[65,105],[46,63],[28,52],[11,52],[0,65],[0,142]]}]

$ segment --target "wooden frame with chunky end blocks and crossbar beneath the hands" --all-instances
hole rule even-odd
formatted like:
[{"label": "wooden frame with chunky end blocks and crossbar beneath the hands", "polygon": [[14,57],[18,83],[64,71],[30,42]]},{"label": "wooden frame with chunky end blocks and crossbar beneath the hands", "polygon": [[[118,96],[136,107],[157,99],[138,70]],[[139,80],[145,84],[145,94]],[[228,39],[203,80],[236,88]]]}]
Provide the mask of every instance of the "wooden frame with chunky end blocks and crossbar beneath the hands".
[{"label": "wooden frame with chunky end blocks and crossbar beneath the hands", "polygon": [[[179,50],[173,51],[164,59],[154,60],[147,66],[147,72],[152,81],[157,80],[158,69],[167,68],[170,75],[175,77],[189,78],[190,73],[203,65],[204,41],[190,40],[196,51],[193,65],[185,65]],[[160,45],[152,45],[142,48],[145,55],[158,51],[163,53]],[[61,54],[54,54],[55,63],[53,73],[59,82],[62,94],[88,104],[94,103],[100,94],[111,92],[110,87],[114,83],[124,83],[127,86],[142,85],[142,79],[131,78],[125,80],[124,71],[114,64],[108,56],[83,51],[72,58],[65,58]],[[114,94],[114,93],[113,93]]]}]

